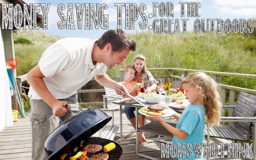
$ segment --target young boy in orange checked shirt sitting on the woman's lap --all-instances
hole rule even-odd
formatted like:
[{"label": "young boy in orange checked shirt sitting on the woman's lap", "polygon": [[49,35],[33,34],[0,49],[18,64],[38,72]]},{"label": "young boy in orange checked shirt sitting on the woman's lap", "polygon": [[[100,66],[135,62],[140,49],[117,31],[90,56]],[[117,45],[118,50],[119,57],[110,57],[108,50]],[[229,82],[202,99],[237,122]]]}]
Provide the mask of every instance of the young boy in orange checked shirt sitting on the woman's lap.
[{"label": "young boy in orange checked shirt sitting on the woman's lap", "polygon": [[122,84],[127,87],[127,89],[129,90],[128,93],[131,94],[131,96],[137,96],[142,87],[142,85],[138,84],[137,81],[133,80],[135,72],[136,70],[133,65],[127,65],[125,67],[125,80]]}]

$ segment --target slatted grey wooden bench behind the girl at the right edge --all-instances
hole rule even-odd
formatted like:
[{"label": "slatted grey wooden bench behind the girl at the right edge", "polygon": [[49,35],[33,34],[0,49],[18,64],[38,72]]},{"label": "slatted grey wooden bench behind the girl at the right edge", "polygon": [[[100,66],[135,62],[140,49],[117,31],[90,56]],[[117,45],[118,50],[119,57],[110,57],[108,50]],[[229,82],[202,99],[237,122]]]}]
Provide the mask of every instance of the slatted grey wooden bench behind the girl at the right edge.
[{"label": "slatted grey wooden bench behind the girl at the right edge", "polygon": [[233,123],[210,127],[210,137],[247,141],[256,136],[251,129],[256,122],[256,96],[240,92],[236,106],[223,106],[223,109],[233,109],[233,117],[220,117],[221,121]]}]

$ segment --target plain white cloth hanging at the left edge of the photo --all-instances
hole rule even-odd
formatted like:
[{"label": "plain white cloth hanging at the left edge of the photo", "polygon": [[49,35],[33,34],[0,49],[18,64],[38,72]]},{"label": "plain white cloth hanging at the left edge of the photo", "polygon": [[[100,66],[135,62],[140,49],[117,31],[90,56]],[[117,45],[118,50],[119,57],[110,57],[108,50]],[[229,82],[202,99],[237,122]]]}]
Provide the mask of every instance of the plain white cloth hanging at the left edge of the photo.
[{"label": "plain white cloth hanging at the left edge of the photo", "polygon": [[0,131],[13,125],[10,84],[6,70],[3,39],[0,31]]}]

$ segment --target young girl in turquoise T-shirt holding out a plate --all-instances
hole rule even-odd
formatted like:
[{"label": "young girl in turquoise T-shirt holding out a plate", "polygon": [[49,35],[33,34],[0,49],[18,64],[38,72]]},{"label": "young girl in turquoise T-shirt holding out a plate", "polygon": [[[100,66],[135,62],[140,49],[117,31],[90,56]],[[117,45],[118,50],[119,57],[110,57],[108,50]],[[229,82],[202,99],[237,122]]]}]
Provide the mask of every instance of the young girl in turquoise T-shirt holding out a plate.
[{"label": "young girl in turquoise T-shirt holding out a plate", "polygon": [[[195,157],[193,143],[203,143],[204,124],[218,125],[219,115],[221,114],[221,100],[218,92],[218,84],[205,73],[192,73],[181,82],[181,87],[185,90],[185,96],[190,104],[183,113],[175,113],[173,117],[177,119],[176,128],[168,125],[161,117],[154,118],[158,120],[174,137],[172,143],[177,147],[180,143],[185,146],[190,143],[192,157],[186,149],[189,157],[177,157],[178,159],[201,159]],[[178,154],[176,154],[178,155]]]}]

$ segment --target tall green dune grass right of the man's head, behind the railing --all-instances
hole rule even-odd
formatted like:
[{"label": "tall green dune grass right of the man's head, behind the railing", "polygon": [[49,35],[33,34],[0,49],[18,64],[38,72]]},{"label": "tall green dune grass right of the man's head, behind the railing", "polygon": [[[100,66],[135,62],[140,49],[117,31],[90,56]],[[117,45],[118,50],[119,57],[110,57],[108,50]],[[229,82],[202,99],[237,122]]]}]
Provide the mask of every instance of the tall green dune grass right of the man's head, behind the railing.
[{"label": "tall green dune grass right of the man's head, behind the railing", "polygon": [[[125,65],[132,64],[134,55],[143,54],[148,68],[186,68],[218,72],[256,74],[256,38],[242,34],[156,35],[140,32],[131,35],[137,49]],[[124,65],[124,66],[125,66]],[[122,66],[109,70],[119,76]],[[168,75],[167,71],[157,72]],[[177,74],[181,74],[178,72]],[[221,83],[256,89],[255,80],[221,76]]]}]

